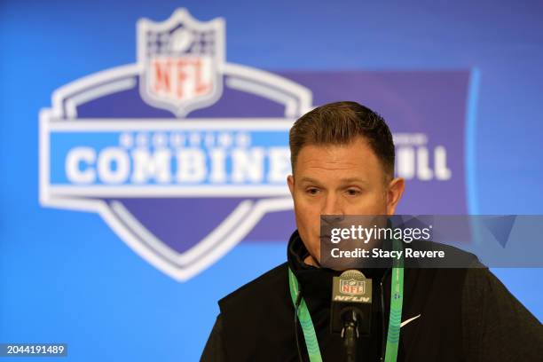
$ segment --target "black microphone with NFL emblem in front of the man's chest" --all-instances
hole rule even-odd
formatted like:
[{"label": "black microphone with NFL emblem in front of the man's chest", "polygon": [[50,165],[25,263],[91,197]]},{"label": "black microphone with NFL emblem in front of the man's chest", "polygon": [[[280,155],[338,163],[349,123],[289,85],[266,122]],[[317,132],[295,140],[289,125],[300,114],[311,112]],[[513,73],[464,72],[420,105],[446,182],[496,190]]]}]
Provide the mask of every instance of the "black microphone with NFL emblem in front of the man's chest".
[{"label": "black microphone with NFL emblem in front of the man's chest", "polygon": [[343,271],[332,282],[330,329],[341,334],[346,360],[356,361],[357,340],[369,335],[372,320],[372,279],[360,271]]}]

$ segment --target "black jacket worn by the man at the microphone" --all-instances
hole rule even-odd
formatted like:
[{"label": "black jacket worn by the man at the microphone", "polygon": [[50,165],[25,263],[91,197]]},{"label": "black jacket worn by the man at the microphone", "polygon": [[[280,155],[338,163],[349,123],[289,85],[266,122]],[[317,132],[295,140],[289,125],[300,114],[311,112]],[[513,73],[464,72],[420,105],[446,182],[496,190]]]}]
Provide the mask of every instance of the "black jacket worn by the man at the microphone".
[{"label": "black jacket worn by the man at the microphone", "polygon": [[[476,256],[465,253],[472,264]],[[330,333],[332,278],[337,272],[303,263],[295,232],[285,264],[219,301],[221,313],[202,361],[297,361],[294,307],[287,268],[294,271],[311,313],[324,361],[344,360],[341,336]],[[479,264],[480,265],[480,264]],[[390,269],[363,270],[373,283],[371,335],[358,360],[384,356],[390,310]],[[541,361],[543,327],[487,268],[405,269],[398,361]],[[303,360],[309,360],[299,325]]]}]

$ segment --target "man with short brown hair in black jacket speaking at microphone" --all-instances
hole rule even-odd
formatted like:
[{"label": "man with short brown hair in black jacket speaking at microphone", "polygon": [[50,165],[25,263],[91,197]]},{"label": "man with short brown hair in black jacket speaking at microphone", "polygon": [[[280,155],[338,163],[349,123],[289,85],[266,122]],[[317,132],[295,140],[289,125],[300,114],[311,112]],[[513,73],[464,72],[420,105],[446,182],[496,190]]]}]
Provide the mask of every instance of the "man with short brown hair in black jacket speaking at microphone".
[{"label": "man with short brown hair in black jacket speaking at microphone", "polygon": [[[330,332],[332,279],[340,272],[320,267],[320,216],[393,215],[405,183],[394,177],[388,126],[357,103],[332,103],[304,114],[290,130],[289,144],[293,175],[287,183],[297,230],[288,242],[287,263],[219,301],[221,313],[203,361],[345,360],[342,336]],[[476,263],[475,256],[466,256]],[[291,295],[289,269],[307,305],[316,342],[306,340],[295,318],[301,299]],[[391,272],[362,271],[373,279],[376,303],[371,334],[358,340],[360,361],[385,356],[405,361],[543,360],[539,321],[486,268],[405,269],[403,323],[397,358],[390,357],[395,354],[386,341]]]}]

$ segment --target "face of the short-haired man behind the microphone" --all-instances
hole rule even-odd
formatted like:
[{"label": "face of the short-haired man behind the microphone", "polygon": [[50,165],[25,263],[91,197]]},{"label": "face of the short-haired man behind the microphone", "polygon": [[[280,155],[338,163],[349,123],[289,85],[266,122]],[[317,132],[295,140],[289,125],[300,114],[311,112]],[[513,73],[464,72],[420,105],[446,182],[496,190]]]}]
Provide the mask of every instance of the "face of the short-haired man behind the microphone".
[{"label": "face of the short-haired man behind the microphone", "polygon": [[303,146],[287,182],[298,232],[314,259],[320,260],[321,215],[394,214],[404,180],[386,180],[364,138],[344,146]]}]

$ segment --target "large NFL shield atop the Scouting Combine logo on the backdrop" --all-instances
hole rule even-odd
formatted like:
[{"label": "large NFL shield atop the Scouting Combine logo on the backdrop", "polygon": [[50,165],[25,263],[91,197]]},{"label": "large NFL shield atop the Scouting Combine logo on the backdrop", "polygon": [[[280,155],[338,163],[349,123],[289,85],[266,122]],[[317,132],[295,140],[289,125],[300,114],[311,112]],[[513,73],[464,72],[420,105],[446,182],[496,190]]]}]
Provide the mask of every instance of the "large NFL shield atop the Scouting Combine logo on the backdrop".
[{"label": "large NFL shield atop the Scouting Combine logo on the backdrop", "polygon": [[185,9],[169,20],[138,21],[141,97],[183,117],[209,106],[223,91],[224,20],[194,20]]}]

